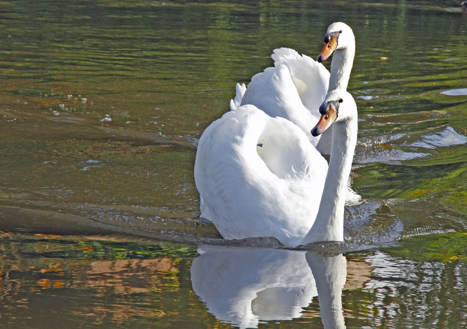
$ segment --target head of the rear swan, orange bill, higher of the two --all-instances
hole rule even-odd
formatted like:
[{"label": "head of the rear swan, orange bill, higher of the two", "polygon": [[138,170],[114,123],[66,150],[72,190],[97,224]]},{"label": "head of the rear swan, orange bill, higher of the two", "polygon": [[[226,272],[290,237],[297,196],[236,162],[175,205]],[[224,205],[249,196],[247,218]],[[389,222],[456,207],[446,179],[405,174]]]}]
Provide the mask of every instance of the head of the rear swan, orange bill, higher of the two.
[{"label": "head of the rear swan, orange bill, higher of the two", "polygon": [[354,32],[345,23],[333,23],[327,28],[324,42],[324,48],[316,58],[318,63],[324,62],[328,59],[334,50],[346,49],[349,45],[354,45]]}]

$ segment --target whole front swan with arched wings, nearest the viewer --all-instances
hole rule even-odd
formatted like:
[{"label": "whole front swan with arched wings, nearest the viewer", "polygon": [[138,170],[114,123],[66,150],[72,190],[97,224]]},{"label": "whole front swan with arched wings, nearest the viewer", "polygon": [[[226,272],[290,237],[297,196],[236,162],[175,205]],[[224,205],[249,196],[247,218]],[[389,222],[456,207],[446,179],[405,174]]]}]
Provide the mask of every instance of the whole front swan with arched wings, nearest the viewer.
[{"label": "whole front swan with arched wings, nearest the viewer", "polygon": [[329,166],[298,126],[254,105],[208,126],[194,166],[201,217],[226,239],[275,237],[292,246],[343,241],[357,106],[347,91],[334,90],[319,112],[313,136],[334,126]]}]

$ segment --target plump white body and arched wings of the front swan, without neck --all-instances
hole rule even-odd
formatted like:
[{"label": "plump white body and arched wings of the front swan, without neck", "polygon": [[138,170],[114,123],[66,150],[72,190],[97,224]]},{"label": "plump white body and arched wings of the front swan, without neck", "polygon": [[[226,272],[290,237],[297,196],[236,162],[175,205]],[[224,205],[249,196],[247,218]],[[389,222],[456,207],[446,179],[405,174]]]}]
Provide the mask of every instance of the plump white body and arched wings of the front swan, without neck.
[{"label": "plump white body and arched wings of the front swan, without neck", "polygon": [[240,106],[199,139],[194,176],[201,216],[224,238],[275,237],[295,245],[313,224],[326,173],[325,159],[300,128]]}]

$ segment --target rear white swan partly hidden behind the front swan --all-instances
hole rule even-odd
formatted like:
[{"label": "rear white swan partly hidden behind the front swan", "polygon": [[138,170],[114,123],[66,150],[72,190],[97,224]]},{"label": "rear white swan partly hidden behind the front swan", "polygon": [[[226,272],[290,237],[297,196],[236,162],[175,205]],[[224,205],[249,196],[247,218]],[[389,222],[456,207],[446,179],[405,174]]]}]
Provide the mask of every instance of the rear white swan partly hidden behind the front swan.
[{"label": "rear white swan partly hidden behind the front swan", "polygon": [[[248,88],[237,84],[236,96],[230,100],[231,111],[251,104],[271,117],[288,119],[304,131],[321,154],[329,154],[332,129],[323,136],[312,136],[310,127],[319,119],[318,108],[328,90],[347,89],[355,56],[354,32],[347,24],[336,22],[327,28],[324,42],[317,61],[293,49],[274,49],[271,57],[275,67],[253,76]],[[333,52],[329,73],[321,62]]]}]

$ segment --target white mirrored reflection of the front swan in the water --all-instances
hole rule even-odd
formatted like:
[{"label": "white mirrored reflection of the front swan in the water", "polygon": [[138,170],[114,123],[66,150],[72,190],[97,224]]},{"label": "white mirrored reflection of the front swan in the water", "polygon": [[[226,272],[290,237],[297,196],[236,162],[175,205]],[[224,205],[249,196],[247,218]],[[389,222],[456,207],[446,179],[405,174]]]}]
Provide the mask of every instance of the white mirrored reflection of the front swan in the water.
[{"label": "white mirrored reflection of the front swan in the water", "polygon": [[324,328],[345,328],[341,294],[346,259],[318,252],[202,245],[193,259],[193,290],[208,311],[240,328],[291,320],[318,296]]}]

